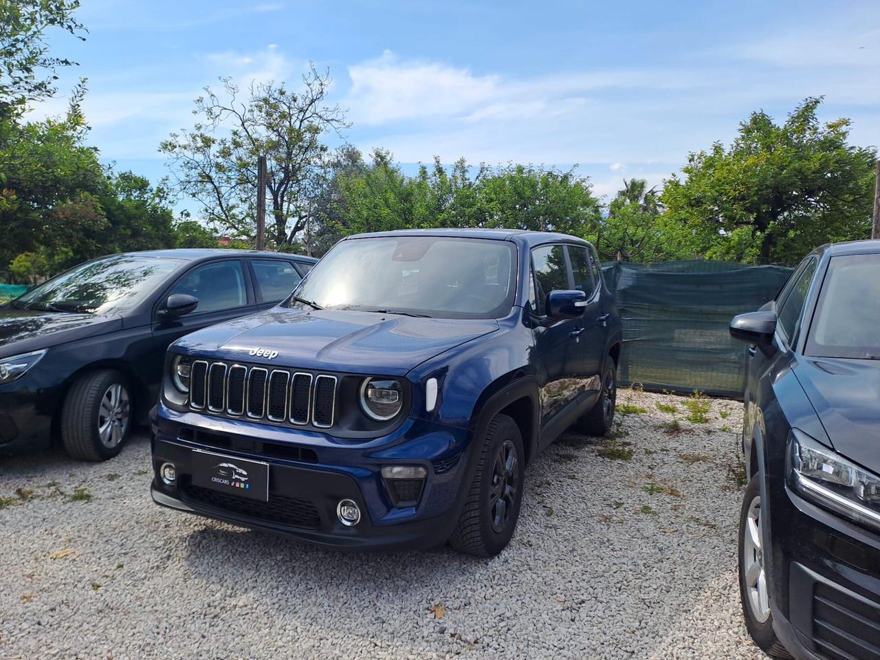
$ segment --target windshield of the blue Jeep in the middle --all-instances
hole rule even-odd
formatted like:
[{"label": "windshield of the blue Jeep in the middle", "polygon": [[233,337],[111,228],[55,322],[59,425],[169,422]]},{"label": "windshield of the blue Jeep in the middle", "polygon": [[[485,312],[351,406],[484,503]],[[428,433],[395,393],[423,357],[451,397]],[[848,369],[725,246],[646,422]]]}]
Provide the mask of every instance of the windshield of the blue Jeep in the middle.
[{"label": "windshield of the blue Jeep in the middle", "polygon": [[356,238],[335,246],[288,305],[498,319],[516,292],[516,248],[480,238]]}]

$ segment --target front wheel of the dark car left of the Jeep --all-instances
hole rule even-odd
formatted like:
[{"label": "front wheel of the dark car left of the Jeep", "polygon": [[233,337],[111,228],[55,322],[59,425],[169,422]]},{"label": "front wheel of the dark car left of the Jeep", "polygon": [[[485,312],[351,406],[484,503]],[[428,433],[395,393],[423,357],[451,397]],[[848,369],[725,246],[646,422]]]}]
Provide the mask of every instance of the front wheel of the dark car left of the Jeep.
[{"label": "front wheel of the dark car left of the Jeep", "polygon": [[62,440],[70,456],[106,460],[122,449],[131,428],[128,381],[116,370],[92,371],[70,387],[62,407]]}]

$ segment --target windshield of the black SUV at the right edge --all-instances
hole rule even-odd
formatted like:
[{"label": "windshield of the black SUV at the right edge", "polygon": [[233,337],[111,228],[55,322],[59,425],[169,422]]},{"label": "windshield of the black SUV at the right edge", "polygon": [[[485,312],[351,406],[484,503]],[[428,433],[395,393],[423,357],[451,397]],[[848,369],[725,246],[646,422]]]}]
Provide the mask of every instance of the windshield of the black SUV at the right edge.
[{"label": "windshield of the black SUV at the right edge", "polygon": [[832,257],[806,354],[816,357],[880,359],[880,254]]}]

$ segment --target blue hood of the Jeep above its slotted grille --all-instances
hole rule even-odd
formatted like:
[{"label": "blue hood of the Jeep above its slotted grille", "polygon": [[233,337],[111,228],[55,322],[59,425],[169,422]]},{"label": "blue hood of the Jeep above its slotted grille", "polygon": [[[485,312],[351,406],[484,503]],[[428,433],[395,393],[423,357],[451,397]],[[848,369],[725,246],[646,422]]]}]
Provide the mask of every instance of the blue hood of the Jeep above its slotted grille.
[{"label": "blue hood of the Jeep above its slotted grille", "polygon": [[[415,319],[374,312],[280,307],[175,342],[197,356],[312,370],[403,376],[431,357],[498,329],[492,319]],[[254,355],[257,349],[269,355]]]}]

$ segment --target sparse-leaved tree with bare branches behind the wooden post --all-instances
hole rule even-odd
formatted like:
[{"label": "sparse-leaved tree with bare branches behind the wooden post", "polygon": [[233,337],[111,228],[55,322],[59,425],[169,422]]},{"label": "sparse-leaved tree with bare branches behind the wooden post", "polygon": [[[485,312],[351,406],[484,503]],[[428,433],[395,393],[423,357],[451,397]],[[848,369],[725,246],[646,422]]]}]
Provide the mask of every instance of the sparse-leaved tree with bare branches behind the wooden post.
[{"label": "sparse-leaved tree with bare branches behind the wooden post", "polygon": [[267,158],[267,199],[276,247],[294,242],[308,217],[312,184],[326,156],[324,137],[348,128],[339,106],[327,105],[327,72],[310,64],[299,92],[283,83],[252,84],[247,98],[231,78],[221,94],[205,88],[195,99],[200,117],[161,143],[173,168],[173,186],[202,207],[209,224],[237,238],[253,238],[257,158]]}]

